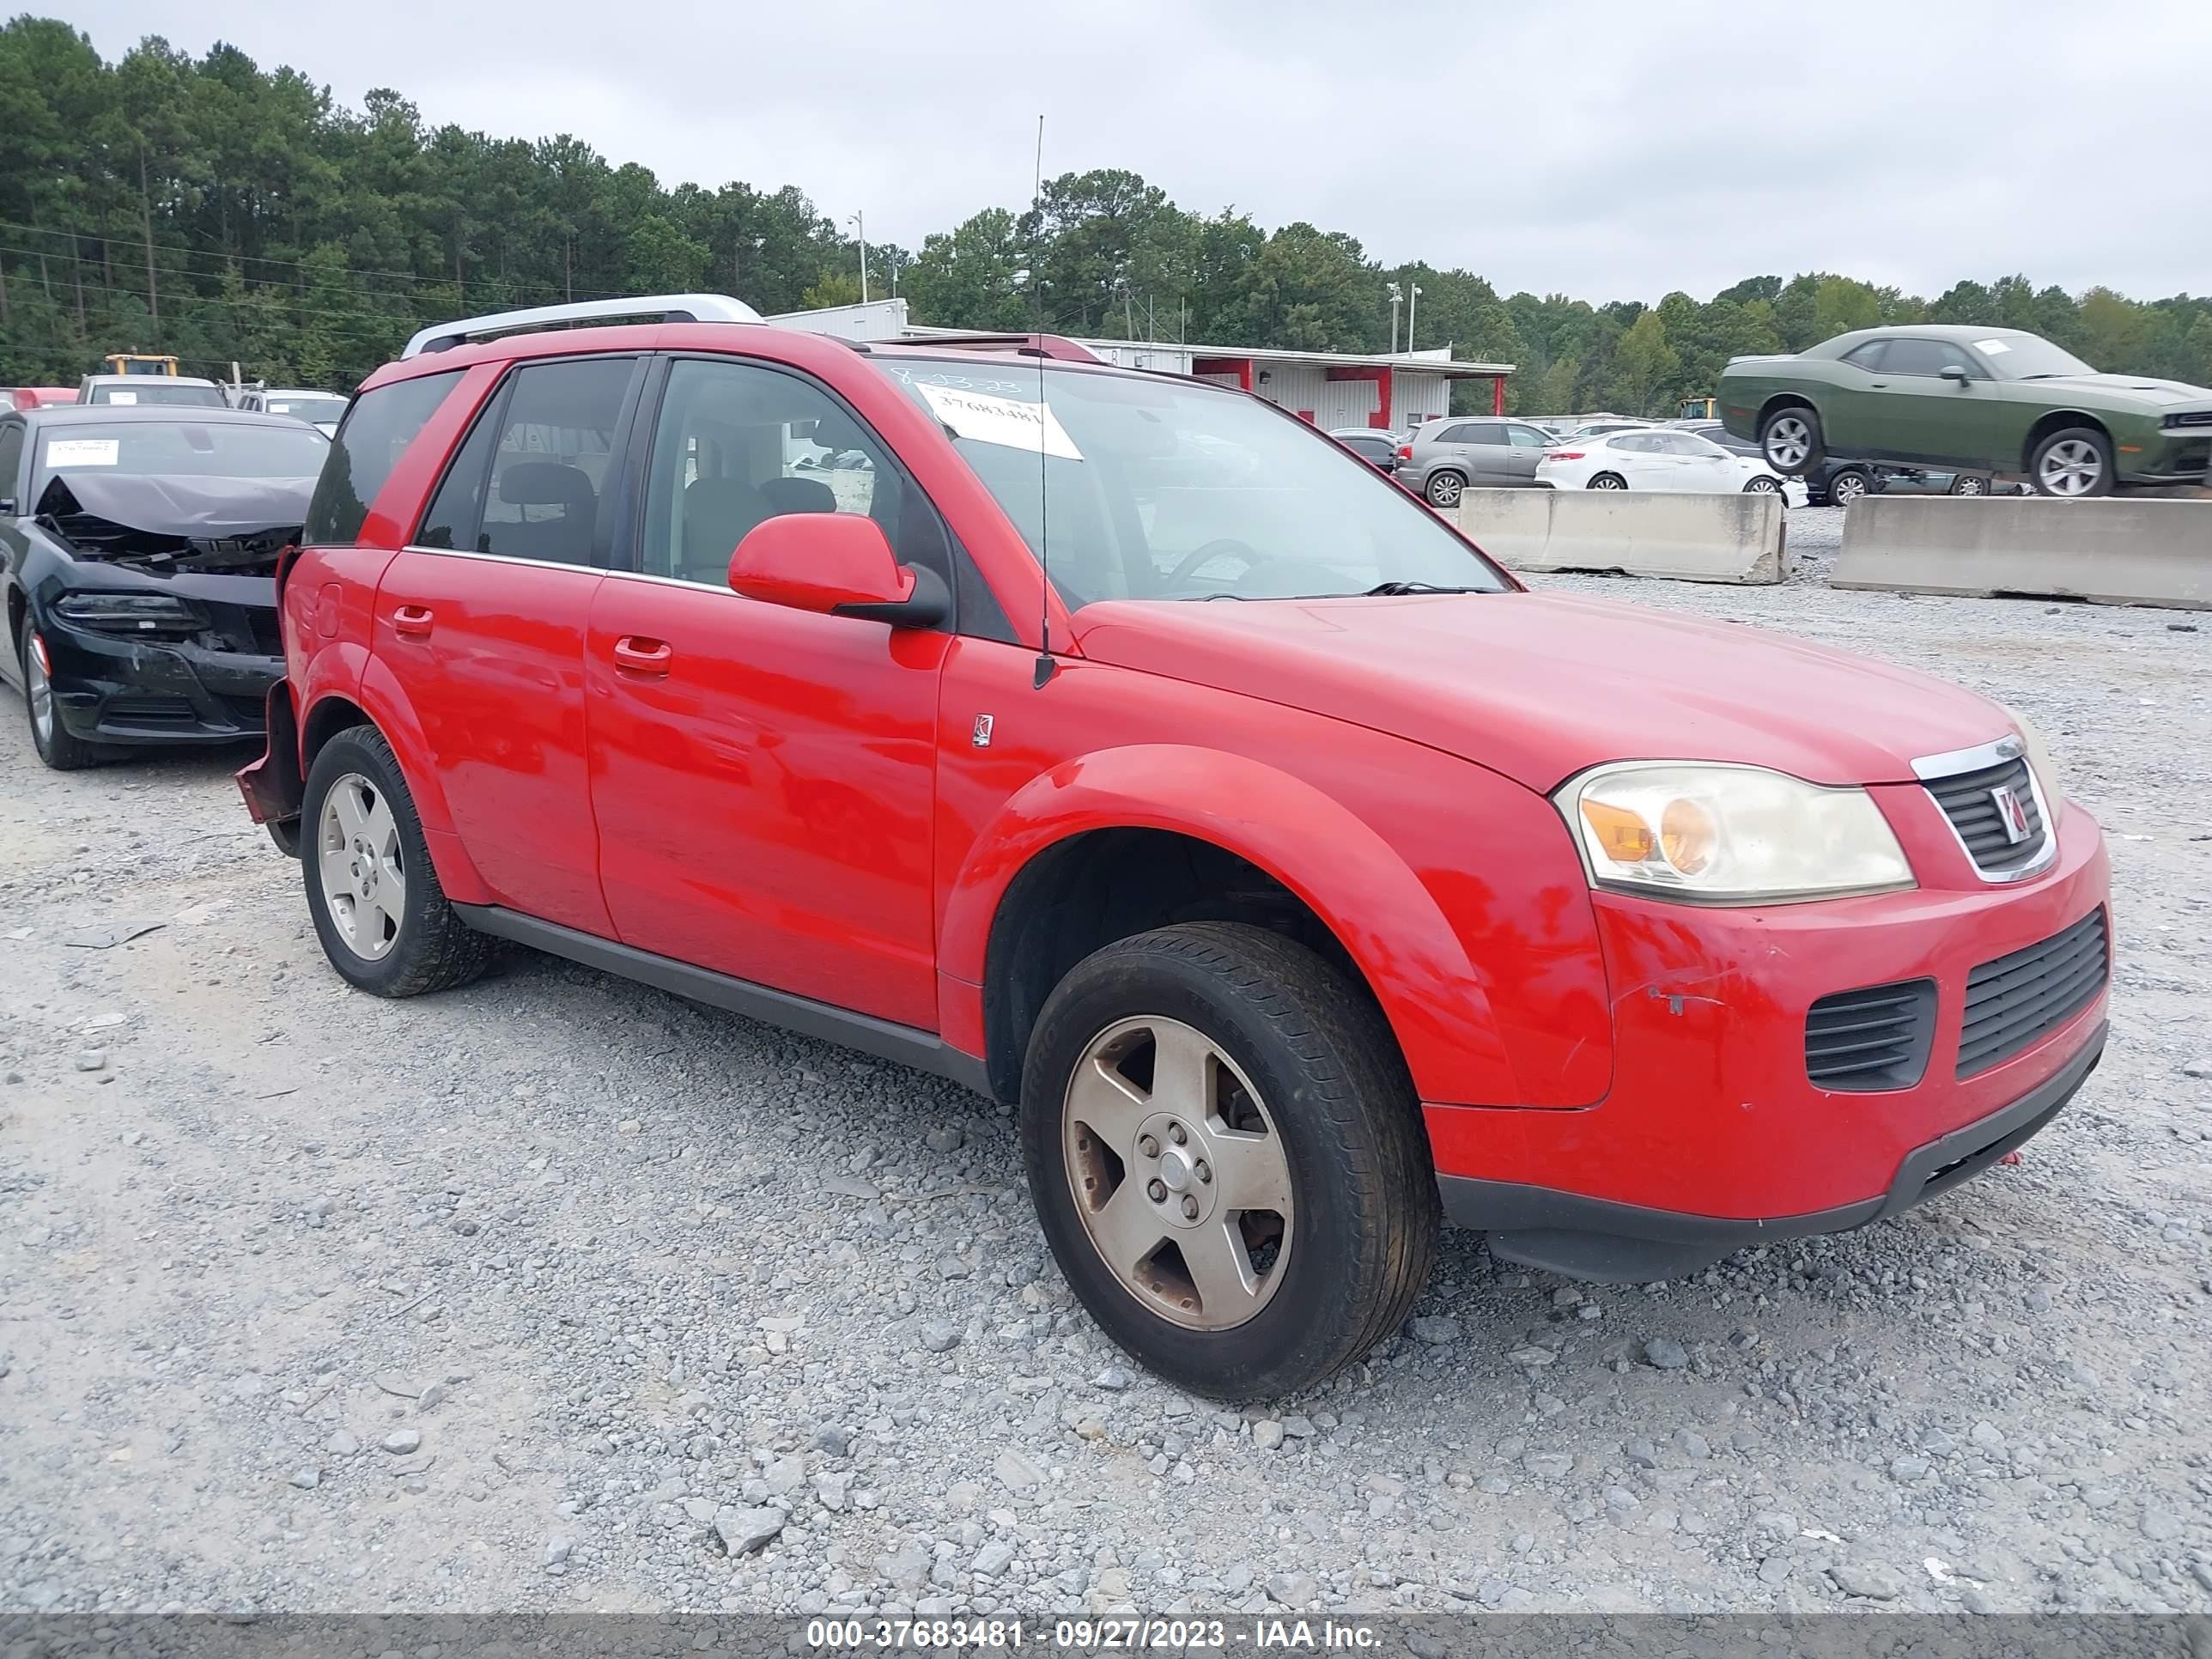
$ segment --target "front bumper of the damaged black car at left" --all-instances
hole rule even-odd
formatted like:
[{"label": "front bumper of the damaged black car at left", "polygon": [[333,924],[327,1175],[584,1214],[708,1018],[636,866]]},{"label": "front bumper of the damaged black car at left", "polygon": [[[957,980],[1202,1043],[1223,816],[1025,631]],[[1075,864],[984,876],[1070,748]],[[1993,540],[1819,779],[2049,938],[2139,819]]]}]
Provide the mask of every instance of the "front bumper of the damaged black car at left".
[{"label": "front bumper of the damaged black car at left", "polygon": [[223,743],[261,737],[283,657],[212,650],[44,619],[60,721],[91,743]]}]

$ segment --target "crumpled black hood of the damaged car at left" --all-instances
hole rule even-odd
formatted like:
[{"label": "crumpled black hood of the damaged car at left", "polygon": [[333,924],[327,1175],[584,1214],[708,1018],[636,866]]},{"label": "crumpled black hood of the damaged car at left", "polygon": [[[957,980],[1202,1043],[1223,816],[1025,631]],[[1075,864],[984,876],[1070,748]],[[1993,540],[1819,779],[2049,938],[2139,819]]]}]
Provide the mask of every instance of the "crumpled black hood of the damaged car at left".
[{"label": "crumpled black hood of the damaged car at left", "polygon": [[80,557],[270,573],[299,542],[312,478],[55,473],[35,513]]}]

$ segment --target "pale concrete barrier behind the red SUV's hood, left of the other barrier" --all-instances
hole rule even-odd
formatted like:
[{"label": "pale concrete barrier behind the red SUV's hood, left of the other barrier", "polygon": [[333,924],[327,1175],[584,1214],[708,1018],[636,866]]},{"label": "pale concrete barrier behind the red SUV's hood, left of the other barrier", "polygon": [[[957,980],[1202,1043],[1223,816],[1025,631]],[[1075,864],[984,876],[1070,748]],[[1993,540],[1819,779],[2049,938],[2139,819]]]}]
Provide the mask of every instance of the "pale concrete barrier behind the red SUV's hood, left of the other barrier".
[{"label": "pale concrete barrier behind the red SUV's hood, left of the other barrier", "polygon": [[1471,489],[1460,531],[1509,571],[1763,584],[1790,568],[1781,495]]}]

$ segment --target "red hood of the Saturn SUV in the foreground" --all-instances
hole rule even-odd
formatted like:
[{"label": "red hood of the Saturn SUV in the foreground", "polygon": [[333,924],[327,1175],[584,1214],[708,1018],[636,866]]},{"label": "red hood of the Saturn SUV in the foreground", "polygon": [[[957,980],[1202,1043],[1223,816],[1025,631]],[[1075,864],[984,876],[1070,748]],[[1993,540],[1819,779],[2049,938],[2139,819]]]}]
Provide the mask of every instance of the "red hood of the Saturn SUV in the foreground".
[{"label": "red hood of the Saturn SUV in the foreground", "polygon": [[1725,622],[1553,593],[1102,602],[1084,657],[1396,732],[1551,792],[1601,761],[1911,783],[2011,730],[1909,668]]}]

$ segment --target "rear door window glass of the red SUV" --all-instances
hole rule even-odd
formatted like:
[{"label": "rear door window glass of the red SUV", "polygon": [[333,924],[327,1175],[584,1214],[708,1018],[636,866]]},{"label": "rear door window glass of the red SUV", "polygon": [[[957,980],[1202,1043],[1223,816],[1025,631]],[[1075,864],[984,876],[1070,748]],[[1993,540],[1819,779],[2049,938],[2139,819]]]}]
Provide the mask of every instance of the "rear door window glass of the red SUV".
[{"label": "rear door window glass of the red SUV", "polygon": [[637,358],[529,363],[495,394],[422,515],[422,546],[591,564]]}]

